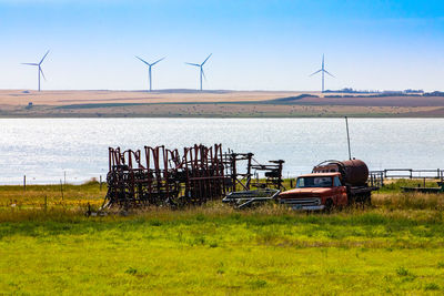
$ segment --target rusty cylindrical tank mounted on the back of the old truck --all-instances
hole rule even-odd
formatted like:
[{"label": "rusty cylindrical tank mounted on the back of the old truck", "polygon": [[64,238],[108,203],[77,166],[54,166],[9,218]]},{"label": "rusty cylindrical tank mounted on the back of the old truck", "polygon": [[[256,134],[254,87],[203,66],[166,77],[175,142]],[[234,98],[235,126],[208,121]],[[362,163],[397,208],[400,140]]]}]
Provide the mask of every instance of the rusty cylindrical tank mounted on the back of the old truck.
[{"label": "rusty cylindrical tank mounted on the back of the old truck", "polygon": [[313,169],[313,173],[340,172],[343,183],[352,186],[364,186],[369,178],[369,167],[361,160],[326,161]]}]

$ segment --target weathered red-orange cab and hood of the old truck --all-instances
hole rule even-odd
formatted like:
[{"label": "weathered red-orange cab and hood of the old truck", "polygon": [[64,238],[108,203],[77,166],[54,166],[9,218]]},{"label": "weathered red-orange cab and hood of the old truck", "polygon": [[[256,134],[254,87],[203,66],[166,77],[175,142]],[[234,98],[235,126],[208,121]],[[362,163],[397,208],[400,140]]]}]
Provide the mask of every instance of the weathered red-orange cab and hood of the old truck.
[{"label": "weathered red-orange cab and hood of the old truck", "polygon": [[347,187],[341,182],[341,173],[312,173],[296,178],[296,186],[282,192],[279,202],[293,210],[321,211],[349,203]]}]

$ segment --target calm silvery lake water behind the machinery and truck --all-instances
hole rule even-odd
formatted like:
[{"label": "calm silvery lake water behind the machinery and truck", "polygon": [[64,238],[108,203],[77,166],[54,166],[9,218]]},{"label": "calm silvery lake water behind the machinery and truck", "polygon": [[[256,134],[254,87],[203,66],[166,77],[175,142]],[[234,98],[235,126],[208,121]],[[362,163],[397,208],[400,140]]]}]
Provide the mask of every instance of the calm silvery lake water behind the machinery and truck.
[{"label": "calm silvery lake water behind the machinery and truck", "polygon": [[[443,119],[351,119],[352,154],[371,170],[444,169]],[[347,159],[342,119],[2,119],[0,184],[103,177],[108,147],[222,143],[260,162],[285,160],[285,176]]]}]

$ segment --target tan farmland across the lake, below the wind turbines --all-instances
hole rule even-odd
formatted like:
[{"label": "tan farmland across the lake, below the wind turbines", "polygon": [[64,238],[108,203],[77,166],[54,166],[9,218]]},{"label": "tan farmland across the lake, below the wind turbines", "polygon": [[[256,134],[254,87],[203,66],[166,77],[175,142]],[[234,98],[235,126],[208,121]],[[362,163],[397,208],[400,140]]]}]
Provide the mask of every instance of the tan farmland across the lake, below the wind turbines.
[{"label": "tan farmland across the lake, below the wind turbines", "polygon": [[[316,95],[297,98],[301,94]],[[290,91],[0,91],[0,118],[444,116],[443,96],[353,96]],[[32,106],[28,104],[32,102]]]}]

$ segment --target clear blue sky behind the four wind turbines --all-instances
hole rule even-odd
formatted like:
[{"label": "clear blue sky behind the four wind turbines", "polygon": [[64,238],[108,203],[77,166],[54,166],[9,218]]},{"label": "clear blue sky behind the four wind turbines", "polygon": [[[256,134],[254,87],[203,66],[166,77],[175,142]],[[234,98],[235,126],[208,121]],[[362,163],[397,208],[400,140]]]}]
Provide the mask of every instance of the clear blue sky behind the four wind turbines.
[{"label": "clear blue sky behind the four wind turbines", "polygon": [[0,89],[443,90],[443,1],[0,0]]}]

